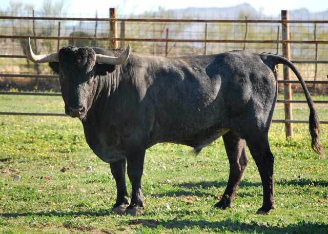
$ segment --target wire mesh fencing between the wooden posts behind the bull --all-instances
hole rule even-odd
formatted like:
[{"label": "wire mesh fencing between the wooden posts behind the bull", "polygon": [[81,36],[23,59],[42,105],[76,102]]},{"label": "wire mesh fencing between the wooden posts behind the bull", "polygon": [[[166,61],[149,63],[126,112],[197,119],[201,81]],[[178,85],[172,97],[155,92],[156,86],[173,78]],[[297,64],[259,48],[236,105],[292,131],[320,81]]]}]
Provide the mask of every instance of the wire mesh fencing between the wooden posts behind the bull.
[{"label": "wire mesh fencing between the wooden posts behind the bull", "polygon": [[[25,48],[29,36],[35,38],[32,40],[32,48],[36,53],[55,52],[67,45],[110,48],[110,41],[115,39],[121,49],[129,43],[133,52],[156,56],[216,54],[236,49],[282,55],[282,43],[285,43],[282,40],[282,23],[286,22],[279,18],[249,19],[238,15],[234,19],[174,19],[169,18],[170,15],[156,14],[133,18],[98,18],[97,15],[90,18],[31,16],[29,13],[20,17],[0,16],[2,89],[18,87],[18,90],[59,91],[57,76],[51,74],[47,64],[32,64],[26,60]],[[111,37],[111,21],[117,21],[118,38]],[[291,17],[288,23],[292,61],[304,80],[308,81],[308,86],[312,85],[310,88],[316,86],[317,92],[327,92],[328,42],[325,39],[328,38],[328,21],[324,17],[301,21]],[[278,66],[278,70],[282,71],[282,65]],[[282,72],[278,73],[278,79],[282,79]],[[297,80],[294,74],[292,80]],[[288,104],[293,101],[278,102]],[[274,122],[279,121],[293,122]]]}]

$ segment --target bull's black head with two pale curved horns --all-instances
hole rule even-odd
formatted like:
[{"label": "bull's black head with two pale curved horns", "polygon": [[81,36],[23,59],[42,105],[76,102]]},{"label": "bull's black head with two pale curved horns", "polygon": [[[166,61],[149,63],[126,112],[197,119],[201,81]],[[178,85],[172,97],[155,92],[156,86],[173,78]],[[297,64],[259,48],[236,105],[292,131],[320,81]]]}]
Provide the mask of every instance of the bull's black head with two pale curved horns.
[{"label": "bull's black head with two pale curved horns", "polygon": [[[91,108],[98,84],[97,64],[120,65],[130,55],[130,45],[119,57],[96,54],[90,47],[64,47],[58,53],[35,55],[30,38],[27,57],[34,63],[55,63],[59,73],[60,90],[66,114],[81,120]],[[114,67],[114,66],[113,66]]]}]

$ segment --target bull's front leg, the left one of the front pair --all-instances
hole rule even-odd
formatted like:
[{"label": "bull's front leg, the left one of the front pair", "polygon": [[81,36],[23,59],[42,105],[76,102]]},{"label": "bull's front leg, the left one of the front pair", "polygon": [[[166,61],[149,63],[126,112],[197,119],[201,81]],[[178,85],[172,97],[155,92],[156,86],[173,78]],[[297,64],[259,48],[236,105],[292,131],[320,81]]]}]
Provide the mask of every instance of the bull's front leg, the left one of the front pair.
[{"label": "bull's front leg, the left one of the front pair", "polygon": [[129,196],[125,182],[126,159],[111,163],[111,172],[116,182],[117,196],[113,206],[115,213],[125,213],[129,205]]}]

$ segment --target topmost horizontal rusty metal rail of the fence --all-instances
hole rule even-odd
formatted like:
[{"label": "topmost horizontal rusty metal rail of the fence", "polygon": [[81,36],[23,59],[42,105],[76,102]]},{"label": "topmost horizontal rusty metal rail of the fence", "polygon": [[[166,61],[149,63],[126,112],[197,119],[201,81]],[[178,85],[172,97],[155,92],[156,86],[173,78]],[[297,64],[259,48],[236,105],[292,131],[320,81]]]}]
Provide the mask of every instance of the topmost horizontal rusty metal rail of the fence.
[{"label": "topmost horizontal rusty metal rail of the fence", "polygon": [[77,18],[77,17],[31,17],[0,16],[0,19],[42,20],[42,21],[117,21],[117,22],[163,22],[163,23],[290,23],[290,24],[328,24],[328,21],[303,21],[281,19],[172,19],[172,18]]}]

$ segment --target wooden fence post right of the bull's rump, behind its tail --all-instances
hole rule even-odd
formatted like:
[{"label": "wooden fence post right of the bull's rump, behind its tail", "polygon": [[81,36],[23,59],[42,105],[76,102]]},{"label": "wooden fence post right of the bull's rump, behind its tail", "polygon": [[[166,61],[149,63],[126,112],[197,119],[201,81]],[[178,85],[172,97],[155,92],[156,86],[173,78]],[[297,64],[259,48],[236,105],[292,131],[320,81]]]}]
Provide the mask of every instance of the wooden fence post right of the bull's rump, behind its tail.
[{"label": "wooden fence post right of the bull's rump, behind its tail", "polygon": [[[281,10],[281,20],[288,21],[289,14],[288,10]],[[288,23],[281,23],[281,32],[282,32],[282,40],[289,41],[290,40],[290,27]],[[291,59],[291,47],[290,43],[283,42],[282,44],[282,55],[290,60]],[[291,80],[291,74],[288,66],[283,65],[283,80]],[[284,84],[283,86],[283,95],[285,100],[292,100],[292,85],[290,83]],[[293,120],[293,107],[292,103],[284,104],[285,110],[285,120]],[[285,123],[285,134],[286,138],[293,138],[293,125],[292,123]]]}]

